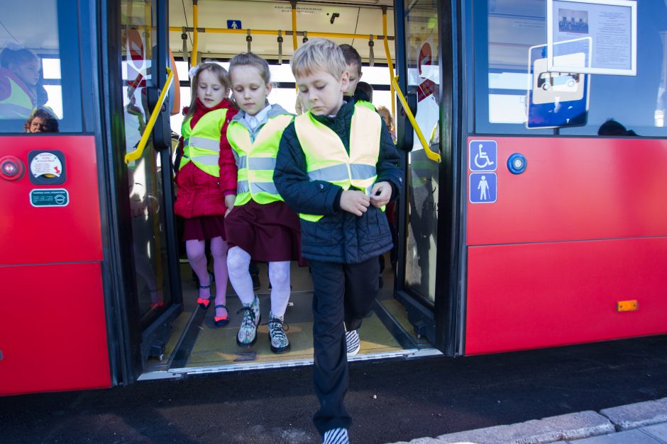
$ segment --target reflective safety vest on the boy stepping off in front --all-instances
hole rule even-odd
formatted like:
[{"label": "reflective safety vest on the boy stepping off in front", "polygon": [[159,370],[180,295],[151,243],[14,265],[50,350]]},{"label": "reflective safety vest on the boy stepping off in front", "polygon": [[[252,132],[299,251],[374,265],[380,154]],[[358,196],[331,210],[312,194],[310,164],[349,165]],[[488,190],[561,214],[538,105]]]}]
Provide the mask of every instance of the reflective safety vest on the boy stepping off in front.
[{"label": "reflective safety vest on the boy stepping off in front", "polygon": [[[350,153],[341,137],[315,120],[312,113],[294,119],[294,130],[306,156],[311,181],[326,181],[343,190],[358,188],[370,194],[377,179],[375,165],[380,158],[381,117],[368,106],[355,103],[350,128]],[[322,215],[299,214],[303,220],[317,222]]]}]

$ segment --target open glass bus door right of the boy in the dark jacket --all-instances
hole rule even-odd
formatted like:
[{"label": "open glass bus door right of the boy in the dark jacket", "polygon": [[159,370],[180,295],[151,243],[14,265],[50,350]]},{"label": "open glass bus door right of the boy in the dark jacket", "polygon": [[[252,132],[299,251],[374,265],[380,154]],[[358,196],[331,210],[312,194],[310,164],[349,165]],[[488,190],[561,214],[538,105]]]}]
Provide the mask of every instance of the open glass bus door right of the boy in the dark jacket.
[{"label": "open glass bus door right of the boy in the dark jacket", "polygon": [[397,143],[405,152],[406,186],[399,200],[396,296],[417,335],[451,355],[451,5],[406,0],[395,2],[395,11],[399,86],[423,135],[400,107]]}]

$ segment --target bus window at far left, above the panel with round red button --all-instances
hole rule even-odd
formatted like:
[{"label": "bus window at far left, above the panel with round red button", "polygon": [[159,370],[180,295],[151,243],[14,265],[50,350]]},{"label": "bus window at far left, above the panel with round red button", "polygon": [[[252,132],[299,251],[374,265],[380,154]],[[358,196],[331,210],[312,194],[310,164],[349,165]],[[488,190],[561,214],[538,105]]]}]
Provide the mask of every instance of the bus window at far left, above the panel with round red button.
[{"label": "bus window at far left, above the panel with round red button", "polygon": [[[3,11],[0,132],[31,132],[32,123],[37,130],[32,132],[79,132],[79,39],[72,35],[78,29],[77,11],[55,0],[38,3]],[[39,20],[35,8],[40,11]],[[35,118],[36,110],[40,111]]]}]

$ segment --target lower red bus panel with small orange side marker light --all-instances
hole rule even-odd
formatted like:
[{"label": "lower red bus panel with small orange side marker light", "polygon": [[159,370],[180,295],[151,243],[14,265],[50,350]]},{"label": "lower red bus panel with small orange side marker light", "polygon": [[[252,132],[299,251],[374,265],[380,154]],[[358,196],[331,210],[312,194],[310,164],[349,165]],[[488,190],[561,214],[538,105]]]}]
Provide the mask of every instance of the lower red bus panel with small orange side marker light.
[{"label": "lower red bus panel with small orange side marker light", "polygon": [[470,247],[465,354],[666,334],[665,270],[667,237]]}]

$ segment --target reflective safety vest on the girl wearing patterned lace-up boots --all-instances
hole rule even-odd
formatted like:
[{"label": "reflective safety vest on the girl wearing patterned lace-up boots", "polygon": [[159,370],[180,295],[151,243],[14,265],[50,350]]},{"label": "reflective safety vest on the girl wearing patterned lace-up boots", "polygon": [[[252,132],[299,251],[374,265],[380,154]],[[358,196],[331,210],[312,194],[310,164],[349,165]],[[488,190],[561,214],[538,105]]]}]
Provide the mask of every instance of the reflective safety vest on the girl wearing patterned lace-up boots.
[{"label": "reflective safety vest on the girl wearing patterned lace-up boots", "polygon": [[280,137],[293,118],[291,114],[269,118],[254,142],[250,142],[250,132],[243,123],[232,120],[227,127],[227,139],[236,154],[238,168],[235,206],[250,199],[260,204],[282,201],[273,183],[273,170]]}]

